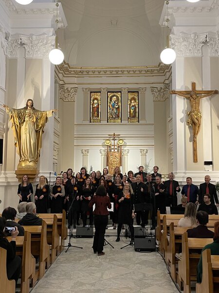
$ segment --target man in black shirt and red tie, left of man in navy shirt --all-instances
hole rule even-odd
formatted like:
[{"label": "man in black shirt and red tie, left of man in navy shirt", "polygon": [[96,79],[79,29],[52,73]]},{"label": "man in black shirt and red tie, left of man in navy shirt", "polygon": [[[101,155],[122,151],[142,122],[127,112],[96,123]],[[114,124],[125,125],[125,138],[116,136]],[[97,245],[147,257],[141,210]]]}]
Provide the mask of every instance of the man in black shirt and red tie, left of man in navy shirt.
[{"label": "man in black shirt and red tie, left of man in navy shirt", "polygon": [[177,192],[180,192],[179,182],[173,180],[175,178],[173,172],[168,174],[169,180],[164,182],[166,191],[166,207],[177,206]]}]

